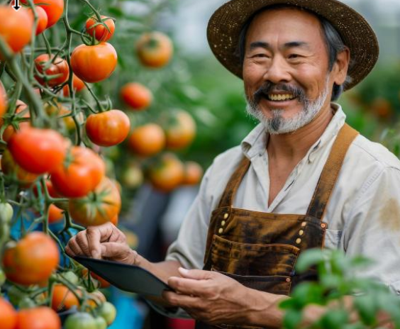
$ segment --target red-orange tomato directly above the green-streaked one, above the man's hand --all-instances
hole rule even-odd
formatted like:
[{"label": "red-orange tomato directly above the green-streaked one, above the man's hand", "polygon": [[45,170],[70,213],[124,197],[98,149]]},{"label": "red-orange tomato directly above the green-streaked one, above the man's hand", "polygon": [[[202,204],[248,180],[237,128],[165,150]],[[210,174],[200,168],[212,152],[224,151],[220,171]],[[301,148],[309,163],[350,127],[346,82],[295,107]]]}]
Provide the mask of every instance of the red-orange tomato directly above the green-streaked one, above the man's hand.
[{"label": "red-orange tomato directly above the green-streaked one, above the man's hand", "polygon": [[67,198],[81,198],[93,191],[106,172],[104,161],[85,147],[72,147],[67,162],[51,174],[55,190]]}]

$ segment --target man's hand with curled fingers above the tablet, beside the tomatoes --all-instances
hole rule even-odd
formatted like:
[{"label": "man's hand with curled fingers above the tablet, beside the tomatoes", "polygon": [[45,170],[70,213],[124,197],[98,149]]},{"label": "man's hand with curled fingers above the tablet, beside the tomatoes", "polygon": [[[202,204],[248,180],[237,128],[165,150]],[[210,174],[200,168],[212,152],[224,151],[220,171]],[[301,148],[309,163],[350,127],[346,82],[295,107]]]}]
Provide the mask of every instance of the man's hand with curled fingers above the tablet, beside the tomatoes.
[{"label": "man's hand with curled fingers above the tablet, beside the tomatoes", "polygon": [[126,264],[136,264],[138,253],[126,243],[126,236],[112,223],[89,226],[71,238],[65,251],[70,256],[105,258]]}]

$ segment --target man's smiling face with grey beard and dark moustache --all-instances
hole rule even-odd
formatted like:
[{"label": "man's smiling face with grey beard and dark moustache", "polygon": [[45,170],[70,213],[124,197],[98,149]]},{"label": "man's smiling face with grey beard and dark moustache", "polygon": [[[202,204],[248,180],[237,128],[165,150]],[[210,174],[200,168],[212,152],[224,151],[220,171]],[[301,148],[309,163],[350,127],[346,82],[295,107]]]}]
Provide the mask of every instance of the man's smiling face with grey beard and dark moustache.
[{"label": "man's smiling face with grey beard and dark moustache", "polygon": [[269,133],[289,133],[330,106],[335,81],[316,16],[272,9],[253,19],[246,35],[243,81],[248,111]]}]

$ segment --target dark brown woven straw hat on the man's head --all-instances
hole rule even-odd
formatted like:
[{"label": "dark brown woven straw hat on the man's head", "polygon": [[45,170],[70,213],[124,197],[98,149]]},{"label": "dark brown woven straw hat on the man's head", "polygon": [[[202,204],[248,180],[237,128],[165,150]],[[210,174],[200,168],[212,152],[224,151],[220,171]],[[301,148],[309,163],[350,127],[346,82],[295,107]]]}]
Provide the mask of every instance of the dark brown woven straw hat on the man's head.
[{"label": "dark brown woven straw hat on the man's head", "polygon": [[360,13],[336,0],[231,0],[223,4],[209,21],[207,38],[213,54],[230,72],[242,79],[242,65],[237,53],[239,35],[252,15],[267,6],[287,4],[308,9],[329,21],[350,48],[354,65],[348,74],[350,89],[370,73],[379,56],[377,36]]}]

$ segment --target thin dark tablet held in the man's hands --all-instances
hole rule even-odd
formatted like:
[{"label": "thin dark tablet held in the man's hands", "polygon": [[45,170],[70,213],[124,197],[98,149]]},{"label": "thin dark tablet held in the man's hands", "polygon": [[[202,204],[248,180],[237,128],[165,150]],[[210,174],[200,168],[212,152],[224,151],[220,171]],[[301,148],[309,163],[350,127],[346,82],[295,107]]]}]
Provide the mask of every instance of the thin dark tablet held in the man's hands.
[{"label": "thin dark tablet held in the man's hands", "polygon": [[161,296],[164,290],[172,291],[170,286],[142,267],[82,256],[72,258],[123,291],[145,296]]}]

